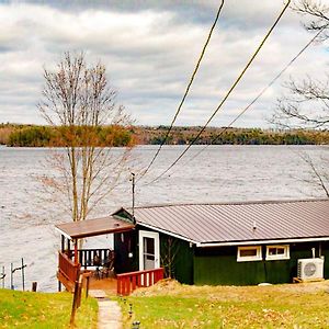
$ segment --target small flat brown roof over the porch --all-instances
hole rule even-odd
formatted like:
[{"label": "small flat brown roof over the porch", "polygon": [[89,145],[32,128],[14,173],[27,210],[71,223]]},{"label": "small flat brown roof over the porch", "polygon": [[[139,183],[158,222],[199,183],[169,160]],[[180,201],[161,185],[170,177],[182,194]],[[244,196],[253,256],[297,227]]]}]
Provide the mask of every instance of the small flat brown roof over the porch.
[{"label": "small flat brown roof over the porch", "polygon": [[65,223],[55,226],[56,229],[69,239],[81,239],[113,232],[123,232],[135,227],[133,223],[114,218],[113,216]]}]

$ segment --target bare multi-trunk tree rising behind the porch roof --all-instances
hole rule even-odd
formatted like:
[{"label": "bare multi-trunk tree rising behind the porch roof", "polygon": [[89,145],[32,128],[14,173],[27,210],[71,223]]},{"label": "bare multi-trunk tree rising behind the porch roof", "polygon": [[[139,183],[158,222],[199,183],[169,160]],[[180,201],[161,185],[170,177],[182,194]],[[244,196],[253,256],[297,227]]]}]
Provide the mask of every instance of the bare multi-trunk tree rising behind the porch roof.
[{"label": "bare multi-trunk tree rising behind the porch roof", "polygon": [[[58,174],[44,177],[43,182],[56,193],[55,200],[67,206],[72,220],[83,220],[126,169],[131,148],[114,152],[111,146],[116,131],[129,124],[129,118],[124,107],[115,104],[116,93],[109,87],[105,67],[89,67],[82,53],[66,53],[55,70],[44,69],[44,78],[38,109],[56,127],[65,152],[54,152],[48,159]],[[100,129],[105,125],[111,133],[101,140]]]}]

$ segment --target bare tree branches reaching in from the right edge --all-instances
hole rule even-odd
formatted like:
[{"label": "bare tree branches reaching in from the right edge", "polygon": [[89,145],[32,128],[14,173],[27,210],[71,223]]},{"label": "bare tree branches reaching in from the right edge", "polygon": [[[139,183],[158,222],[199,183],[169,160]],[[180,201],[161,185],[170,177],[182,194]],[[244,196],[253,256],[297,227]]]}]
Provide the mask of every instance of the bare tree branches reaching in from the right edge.
[{"label": "bare tree branches reaching in from the right edge", "polygon": [[[329,38],[329,7],[321,1],[296,0],[292,9],[305,18],[304,27],[318,33],[317,41]],[[306,77],[297,81],[291,79],[285,83],[287,92],[277,101],[272,122],[285,128],[321,128],[329,126],[329,76],[317,80]],[[308,155],[302,159],[309,166],[316,183],[329,197],[329,177],[326,171],[328,159],[322,158],[324,166],[315,163]]]}]

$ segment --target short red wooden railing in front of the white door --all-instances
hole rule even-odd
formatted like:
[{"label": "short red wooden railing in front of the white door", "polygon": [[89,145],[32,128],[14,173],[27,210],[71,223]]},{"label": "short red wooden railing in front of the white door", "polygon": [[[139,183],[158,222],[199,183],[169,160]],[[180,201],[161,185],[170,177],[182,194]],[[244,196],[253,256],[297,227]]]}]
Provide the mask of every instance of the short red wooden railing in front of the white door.
[{"label": "short red wooden railing in front of the white door", "polygon": [[154,269],[117,274],[117,294],[122,296],[129,295],[137,287],[146,287],[156,284],[163,279],[163,269]]}]

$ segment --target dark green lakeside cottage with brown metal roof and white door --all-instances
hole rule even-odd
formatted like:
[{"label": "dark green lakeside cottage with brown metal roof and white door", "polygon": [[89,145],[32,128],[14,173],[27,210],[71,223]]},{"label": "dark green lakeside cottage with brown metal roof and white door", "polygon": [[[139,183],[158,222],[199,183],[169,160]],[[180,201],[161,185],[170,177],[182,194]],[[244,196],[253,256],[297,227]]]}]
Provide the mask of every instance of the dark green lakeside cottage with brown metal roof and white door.
[{"label": "dark green lakeside cottage with brown metal roof and white door", "polygon": [[116,273],[162,266],[186,284],[286,283],[298,260],[314,259],[299,272],[329,279],[329,200],[121,208],[98,220],[98,234],[114,234]]}]

